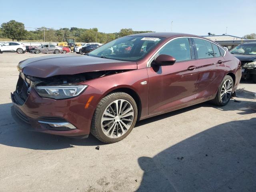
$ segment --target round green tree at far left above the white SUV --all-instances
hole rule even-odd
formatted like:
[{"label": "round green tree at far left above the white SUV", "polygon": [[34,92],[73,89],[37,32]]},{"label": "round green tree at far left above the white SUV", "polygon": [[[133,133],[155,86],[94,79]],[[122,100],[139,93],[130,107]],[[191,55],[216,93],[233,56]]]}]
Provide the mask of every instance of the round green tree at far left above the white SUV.
[{"label": "round green tree at far left above the white SUV", "polygon": [[7,23],[2,23],[1,25],[2,30],[4,32],[4,36],[7,38],[11,38],[12,41],[15,39],[20,41],[26,38],[26,30],[24,24],[21,22],[17,22],[15,20],[10,20]]}]

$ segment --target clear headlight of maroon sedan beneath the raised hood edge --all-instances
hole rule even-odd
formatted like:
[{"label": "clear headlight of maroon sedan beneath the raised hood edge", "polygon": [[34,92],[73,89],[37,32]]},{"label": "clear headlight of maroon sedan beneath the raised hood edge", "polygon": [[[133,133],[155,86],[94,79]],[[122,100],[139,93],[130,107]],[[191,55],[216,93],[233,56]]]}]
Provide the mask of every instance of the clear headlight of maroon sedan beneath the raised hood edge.
[{"label": "clear headlight of maroon sedan beneath the raised hood edge", "polygon": [[53,99],[66,99],[78,96],[85,90],[87,85],[74,85],[74,86],[36,86],[36,92],[41,97]]}]

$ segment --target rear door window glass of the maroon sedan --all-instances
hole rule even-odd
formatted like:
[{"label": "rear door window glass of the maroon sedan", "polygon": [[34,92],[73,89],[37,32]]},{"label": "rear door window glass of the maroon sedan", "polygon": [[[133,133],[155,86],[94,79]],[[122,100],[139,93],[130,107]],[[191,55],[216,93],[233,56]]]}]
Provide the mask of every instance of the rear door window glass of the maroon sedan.
[{"label": "rear door window glass of the maroon sedan", "polygon": [[214,57],[211,42],[198,38],[193,39],[196,44],[196,51],[199,59]]}]

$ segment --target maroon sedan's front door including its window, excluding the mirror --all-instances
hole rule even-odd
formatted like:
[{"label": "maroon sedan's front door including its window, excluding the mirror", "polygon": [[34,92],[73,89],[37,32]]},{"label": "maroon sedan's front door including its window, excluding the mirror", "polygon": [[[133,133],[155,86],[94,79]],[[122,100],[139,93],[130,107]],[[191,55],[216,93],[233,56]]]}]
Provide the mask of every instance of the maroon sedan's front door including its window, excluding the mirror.
[{"label": "maroon sedan's front door including its window, excluding the mirror", "polygon": [[192,103],[196,95],[198,69],[190,38],[170,41],[155,58],[160,54],[170,55],[176,62],[148,68],[149,115]]}]

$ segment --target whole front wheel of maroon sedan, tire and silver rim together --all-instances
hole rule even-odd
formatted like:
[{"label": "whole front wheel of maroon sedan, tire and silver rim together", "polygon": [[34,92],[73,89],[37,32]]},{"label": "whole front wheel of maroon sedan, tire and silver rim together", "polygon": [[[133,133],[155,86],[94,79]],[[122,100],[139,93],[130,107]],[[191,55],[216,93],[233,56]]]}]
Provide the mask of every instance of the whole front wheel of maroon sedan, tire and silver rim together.
[{"label": "whole front wheel of maroon sedan, tire and silver rim together", "polygon": [[137,114],[136,102],[129,94],[109,94],[98,103],[90,132],[104,143],[118,142],[130,134]]}]

